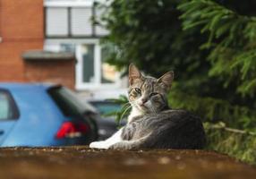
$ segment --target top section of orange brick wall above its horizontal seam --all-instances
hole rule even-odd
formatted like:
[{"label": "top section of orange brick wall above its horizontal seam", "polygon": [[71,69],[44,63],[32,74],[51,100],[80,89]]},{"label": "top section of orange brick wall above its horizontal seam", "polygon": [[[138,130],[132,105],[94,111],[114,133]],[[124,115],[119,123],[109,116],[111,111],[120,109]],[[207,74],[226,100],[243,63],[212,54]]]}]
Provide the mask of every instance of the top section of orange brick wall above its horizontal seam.
[{"label": "top section of orange brick wall above its horizontal seam", "polygon": [[4,40],[44,38],[43,0],[1,0],[1,36]]}]

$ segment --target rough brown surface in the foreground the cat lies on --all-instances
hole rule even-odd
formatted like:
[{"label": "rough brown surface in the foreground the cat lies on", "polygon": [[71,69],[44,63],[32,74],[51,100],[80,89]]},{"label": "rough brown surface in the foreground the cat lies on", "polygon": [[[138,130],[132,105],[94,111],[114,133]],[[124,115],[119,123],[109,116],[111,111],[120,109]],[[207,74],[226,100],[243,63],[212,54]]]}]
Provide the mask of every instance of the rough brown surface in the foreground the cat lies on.
[{"label": "rough brown surface in the foreground the cat lies on", "polygon": [[203,150],[0,148],[3,179],[255,179],[256,167]]}]

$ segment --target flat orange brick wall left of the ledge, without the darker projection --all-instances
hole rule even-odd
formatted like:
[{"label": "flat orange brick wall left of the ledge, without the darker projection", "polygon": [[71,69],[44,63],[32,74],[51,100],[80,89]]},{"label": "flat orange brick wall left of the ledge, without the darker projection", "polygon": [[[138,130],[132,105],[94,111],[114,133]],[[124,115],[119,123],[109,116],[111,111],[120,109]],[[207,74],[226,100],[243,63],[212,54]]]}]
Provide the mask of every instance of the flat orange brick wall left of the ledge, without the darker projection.
[{"label": "flat orange brick wall left of the ledge, without the darker projection", "polygon": [[43,48],[43,0],[1,0],[0,37],[0,81],[26,81],[21,54]]}]

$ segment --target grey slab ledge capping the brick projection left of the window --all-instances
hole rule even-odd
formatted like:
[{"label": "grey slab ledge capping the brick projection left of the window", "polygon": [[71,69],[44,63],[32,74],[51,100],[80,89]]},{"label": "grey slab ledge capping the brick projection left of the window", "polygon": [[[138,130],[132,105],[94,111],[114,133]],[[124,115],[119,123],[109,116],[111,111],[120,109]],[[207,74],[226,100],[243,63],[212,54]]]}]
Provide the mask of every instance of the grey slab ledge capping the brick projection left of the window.
[{"label": "grey slab ledge capping the brick projection left of the window", "polygon": [[28,61],[53,61],[53,60],[74,60],[75,55],[70,52],[49,52],[43,50],[30,50],[22,54],[22,58]]}]

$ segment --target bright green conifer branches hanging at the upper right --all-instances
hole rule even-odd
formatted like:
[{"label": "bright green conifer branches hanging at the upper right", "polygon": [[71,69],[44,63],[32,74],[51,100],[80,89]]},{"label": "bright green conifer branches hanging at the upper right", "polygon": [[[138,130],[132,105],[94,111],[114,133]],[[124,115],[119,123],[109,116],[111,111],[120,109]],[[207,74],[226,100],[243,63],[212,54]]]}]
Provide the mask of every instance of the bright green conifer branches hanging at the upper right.
[{"label": "bright green conifer branches hanging at the upper right", "polygon": [[183,30],[201,28],[208,40],[212,64],[209,75],[235,82],[238,93],[254,97],[256,90],[256,17],[240,15],[211,0],[192,0],[180,4]]}]

